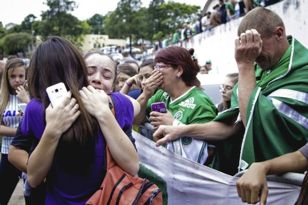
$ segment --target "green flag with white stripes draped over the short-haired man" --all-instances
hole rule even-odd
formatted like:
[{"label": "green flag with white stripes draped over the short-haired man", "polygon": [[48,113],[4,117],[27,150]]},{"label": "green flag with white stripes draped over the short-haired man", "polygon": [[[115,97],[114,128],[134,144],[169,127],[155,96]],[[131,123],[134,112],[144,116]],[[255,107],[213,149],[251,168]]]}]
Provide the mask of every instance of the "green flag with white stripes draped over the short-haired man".
[{"label": "green flag with white stripes draped over the short-haired man", "polygon": [[[233,175],[260,162],[294,152],[308,141],[308,50],[295,38],[270,71],[255,64],[257,86],[249,98],[245,133],[218,143],[214,168]],[[236,85],[231,108],[214,121],[239,116]],[[241,122],[238,122],[241,123]]]}]

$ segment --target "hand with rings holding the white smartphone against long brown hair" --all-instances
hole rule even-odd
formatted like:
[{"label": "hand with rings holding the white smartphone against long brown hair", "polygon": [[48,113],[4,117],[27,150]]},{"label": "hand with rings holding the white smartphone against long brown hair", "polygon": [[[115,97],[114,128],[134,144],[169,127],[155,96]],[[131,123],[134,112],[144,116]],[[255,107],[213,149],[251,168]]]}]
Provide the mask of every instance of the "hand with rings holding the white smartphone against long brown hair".
[{"label": "hand with rings holding the white smartphone against long brown hair", "polygon": [[53,131],[59,138],[80,115],[79,105],[75,98],[71,98],[71,95],[71,91],[68,91],[61,104],[54,108],[49,104],[46,109],[46,128]]}]

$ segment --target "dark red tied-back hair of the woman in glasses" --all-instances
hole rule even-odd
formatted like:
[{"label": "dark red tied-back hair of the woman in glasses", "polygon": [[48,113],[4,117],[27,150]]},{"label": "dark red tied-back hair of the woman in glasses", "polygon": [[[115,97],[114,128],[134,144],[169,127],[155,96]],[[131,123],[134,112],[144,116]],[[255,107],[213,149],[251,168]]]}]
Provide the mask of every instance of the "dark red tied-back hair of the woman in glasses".
[{"label": "dark red tied-back hair of the woman in glasses", "polygon": [[182,80],[187,86],[197,86],[201,89],[201,83],[197,79],[197,74],[200,70],[198,60],[192,58],[195,50],[185,49],[180,46],[170,46],[160,50],[154,59],[155,63],[164,63],[171,65],[172,68],[177,69],[178,66],[183,68]]}]

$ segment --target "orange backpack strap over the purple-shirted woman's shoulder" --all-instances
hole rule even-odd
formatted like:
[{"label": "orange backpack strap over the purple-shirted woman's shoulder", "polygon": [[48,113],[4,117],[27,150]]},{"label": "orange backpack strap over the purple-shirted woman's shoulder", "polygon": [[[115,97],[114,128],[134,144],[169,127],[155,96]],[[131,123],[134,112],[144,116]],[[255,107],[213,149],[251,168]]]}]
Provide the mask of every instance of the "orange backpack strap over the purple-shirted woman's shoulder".
[{"label": "orange backpack strap over the purple-shirted woman's shoulder", "polygon": [[[115,108],[114,99],[111,95],[108,95],[108,100],[109,100],[109,107],[111,109],[111,112],[116,119],[116,108]],[[115,160],[112,158],[111,153],[109,151],[106,139],[104,139],[104,161],[105,161],[104,162],[105,170],[109,170],[110,168],[116,165]]]}]

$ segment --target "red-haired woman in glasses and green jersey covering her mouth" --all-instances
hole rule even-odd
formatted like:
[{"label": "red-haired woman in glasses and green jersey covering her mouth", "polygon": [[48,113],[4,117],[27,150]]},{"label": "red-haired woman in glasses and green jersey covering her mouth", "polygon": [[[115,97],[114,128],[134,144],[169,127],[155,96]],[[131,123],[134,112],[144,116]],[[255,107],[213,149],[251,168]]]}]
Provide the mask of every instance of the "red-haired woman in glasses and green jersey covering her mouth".
[{"label": "red-haired woman in glasses and green jersey covering her mouth", "polygon": [[[170,46],[160,50],[154,61],[155,70],[138,98],[141,111],[135,124],[142,123],[146,115],[154,130],[160,125],[199,124],[216,117],[218,110],[196,77],[199,66],[194,49]],[[160,90],[153,95],[157,88]],[[167,113],[151,112],[151,104],[156,102],[164,102]],[[200,164],[213,160],[214,148],[205,140],[183,136],[167,143],[166,148]]]}]

